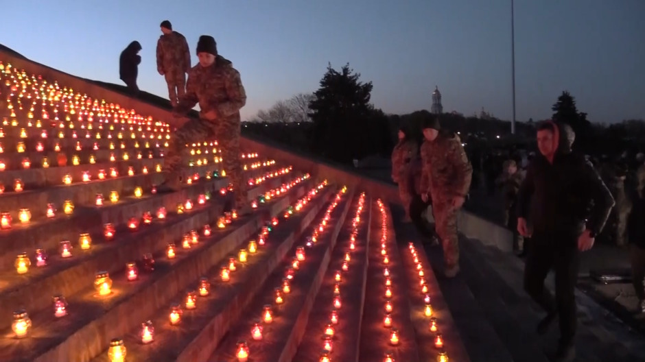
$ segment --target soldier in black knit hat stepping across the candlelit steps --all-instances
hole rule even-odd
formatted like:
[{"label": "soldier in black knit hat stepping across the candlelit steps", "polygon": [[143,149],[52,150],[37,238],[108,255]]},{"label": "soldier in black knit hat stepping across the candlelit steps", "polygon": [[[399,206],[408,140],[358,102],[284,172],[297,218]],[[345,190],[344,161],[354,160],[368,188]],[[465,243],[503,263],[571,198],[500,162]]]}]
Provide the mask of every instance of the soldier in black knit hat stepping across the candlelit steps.
[{"label": "soldier in black knit hat stepping across the candlelit steps", "polygon": [[176,117],[182,117],[199,103],[200,118],[189,119],[171,137],[164,158],[164,168],[169,174],[165,186],[172,190],[180,187],[180,154],[187,143],[215,138],[222,149],[224,170],[235,190],[234,207],[242,206],[242,213],[246,213],[246,182],[239,160],[239,110],[246,104],[246,91],[231,61],[218,55],[213,37],[200,36],[197,56],[199,64],[190,70],[186,94],[173,112]]}]

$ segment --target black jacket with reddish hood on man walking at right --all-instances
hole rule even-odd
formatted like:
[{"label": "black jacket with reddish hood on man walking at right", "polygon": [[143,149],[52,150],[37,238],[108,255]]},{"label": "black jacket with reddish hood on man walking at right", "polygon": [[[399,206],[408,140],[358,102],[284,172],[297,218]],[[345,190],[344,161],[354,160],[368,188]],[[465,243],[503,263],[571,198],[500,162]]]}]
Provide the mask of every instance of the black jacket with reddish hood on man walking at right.
[{"label": "black jacket with reddish hood on man walking at right", "polygon": [[528,165],[517,195],[518,216],[528,219],[534,233],[579,234],[586,224],[598,234],[613,197],[591,162],[572,153],[575,134],[570,126],[550,123],[556,154],[552,163],[537,154]]}]

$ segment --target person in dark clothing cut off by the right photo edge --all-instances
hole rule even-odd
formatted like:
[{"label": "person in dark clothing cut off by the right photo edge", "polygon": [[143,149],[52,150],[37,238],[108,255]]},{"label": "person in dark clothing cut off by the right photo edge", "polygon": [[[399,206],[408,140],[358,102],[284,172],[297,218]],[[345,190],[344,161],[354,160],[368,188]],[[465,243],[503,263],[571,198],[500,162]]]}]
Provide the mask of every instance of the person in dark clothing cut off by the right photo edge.
[{"label": "person in dark clothing cut off by the right photo edge", "polygon": [[638,298],[637,309],[645,313],[645,166],[636,171],[636,186],[629,196],[632,209],[627,219],[627,240],[631,243],[632,282]]}]

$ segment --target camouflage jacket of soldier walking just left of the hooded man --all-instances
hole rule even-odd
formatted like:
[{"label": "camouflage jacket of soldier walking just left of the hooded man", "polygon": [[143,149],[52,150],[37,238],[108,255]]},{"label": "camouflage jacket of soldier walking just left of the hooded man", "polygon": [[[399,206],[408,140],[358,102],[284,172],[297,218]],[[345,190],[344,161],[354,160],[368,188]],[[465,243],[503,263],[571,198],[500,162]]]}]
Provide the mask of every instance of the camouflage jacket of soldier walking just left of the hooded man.
[{"label": "camouflage jacket of soldier walking just left of the hooded man", "polygon": [[432,200],[468,194],[473,167],[456,134],[440,132],[434,141],[423,142],[421,163],[421,193],[428,193]]}]

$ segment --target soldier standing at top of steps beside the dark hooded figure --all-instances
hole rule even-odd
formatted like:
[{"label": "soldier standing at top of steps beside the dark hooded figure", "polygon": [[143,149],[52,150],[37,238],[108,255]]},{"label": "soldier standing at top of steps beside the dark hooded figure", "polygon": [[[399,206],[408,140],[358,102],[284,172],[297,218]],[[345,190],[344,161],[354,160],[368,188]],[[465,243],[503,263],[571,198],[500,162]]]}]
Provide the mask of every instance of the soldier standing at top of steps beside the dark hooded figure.
[{"label": "soldier standing at top of steps beside the dark hooded figure", "polygon": [[190,71],[190,51],[186,38],[172,31],[172,24],[165,20],[156,43],[156,69],[165,77],[168,84],[168,97],[176,106],[185,93],[186,73]]}]

